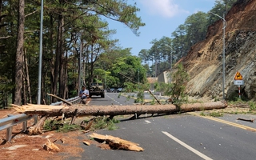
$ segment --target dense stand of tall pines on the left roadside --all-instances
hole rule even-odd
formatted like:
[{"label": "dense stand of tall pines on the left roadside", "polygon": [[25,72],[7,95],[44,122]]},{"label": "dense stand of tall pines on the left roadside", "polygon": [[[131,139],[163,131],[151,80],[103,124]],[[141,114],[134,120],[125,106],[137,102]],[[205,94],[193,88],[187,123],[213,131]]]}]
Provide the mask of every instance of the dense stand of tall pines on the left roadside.
[{"label": "dense stand of tall pines on the left roadside", "polygon": [[[13,98],[17,50],[15,42],[18,17],[21,16],[18,14],[18,2],[24,1],[0,1],[0,88],[6,89],[3,90],[3,95],[12,94]],[[31,90],[31,97],[36,102],[41,3],[26,1],[25,5],[22,6],[23,9],[26,7],[23,15],[26,20],[22,27],[24,57],[23,62],[20,62],[24,66],[21,66],[22,77],[19,78],[23,81],[23,95],[18,97],[23,97],[23,102],[26,102],[28,97],[24,96]],[[138,11],[135,3],[128,4],[126,0],[46,0],[43,13],[42,99],[50,103],[50,99],[46,97],[46,93],[49,92],[62,98],[74,96],[79,90],[80,74],[84,82],[90,82],[94,78],[94,65],[98,61],[98,56],[107,51],[110,53],[117,42],[110,40],[110,35],[115,31],[108,29],[108,24],[103,18],[122,22],[138,35],[138,29],[145,25],[137,16]],[[79,62],[82,63],[80,68]]]}]

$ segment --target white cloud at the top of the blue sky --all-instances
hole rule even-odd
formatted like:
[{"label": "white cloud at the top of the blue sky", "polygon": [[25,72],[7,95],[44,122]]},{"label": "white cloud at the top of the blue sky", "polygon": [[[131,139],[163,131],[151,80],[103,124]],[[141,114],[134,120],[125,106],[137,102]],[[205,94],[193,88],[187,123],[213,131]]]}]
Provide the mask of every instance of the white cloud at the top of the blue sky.
[{"label": "white cloud at the top of the blue sky", "polygon": [[173,0],[140,0],[140,2],[150,14],[158,14],[163,17],[174,17],[182,11],[177,4],[174,4]]}]

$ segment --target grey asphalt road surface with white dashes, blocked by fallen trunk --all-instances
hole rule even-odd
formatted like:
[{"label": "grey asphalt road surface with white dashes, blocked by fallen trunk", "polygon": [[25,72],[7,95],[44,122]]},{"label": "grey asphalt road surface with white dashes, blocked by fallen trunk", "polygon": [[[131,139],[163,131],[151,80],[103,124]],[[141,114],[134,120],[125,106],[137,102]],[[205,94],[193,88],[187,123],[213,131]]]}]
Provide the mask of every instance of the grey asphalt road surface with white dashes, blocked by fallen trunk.
[{"label": "grey asphalt road surface with white dashes, blocked by fallen trunk", "polygon": [[[124,105],[132,104],[133,101],[125,97],[118,98],[118,94],[111,93],[106,94],[104,99],[93,98],[90,104]],[[236,117],[224,116],[222,119],[236,122],[234,118]],[[256,159],[255,132],[207,118],[176,114],[135,120],[123,119],[117,126],[118,130],[98,130],[97,133],[137,142],[144,151],[101,150],[94,145],[81,144],[85,151],[82,158],[78,159]],[[250,123],[250,126],[256,128],[254,123]]]}]

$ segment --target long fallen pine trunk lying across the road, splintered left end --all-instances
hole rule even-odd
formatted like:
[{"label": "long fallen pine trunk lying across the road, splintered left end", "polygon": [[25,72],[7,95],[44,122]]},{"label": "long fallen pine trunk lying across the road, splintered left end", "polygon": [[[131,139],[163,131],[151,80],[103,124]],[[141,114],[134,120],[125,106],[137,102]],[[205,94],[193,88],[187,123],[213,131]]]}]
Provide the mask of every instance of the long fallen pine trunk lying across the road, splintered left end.
[{"label": "long fallen pine trunk lying across the road, splintered left end", "polygon": [[[15,106],[18,112],[25,114],[49,115],[50,117],[61,116],[102,116],[102,115],[125,115],[125,114],[171,114],[175,112],[190,112],[200,110],[213,110],[226,108],[226,102],[203,102],[194,104],[183,104],[182,106],[156,105],[156,106],[38,106],[26,105]],[[43,108],[42,108],[43,107]],[[57,108],[56,108],[57,107]],[[61,108],[61,109],[60,109]]]}]

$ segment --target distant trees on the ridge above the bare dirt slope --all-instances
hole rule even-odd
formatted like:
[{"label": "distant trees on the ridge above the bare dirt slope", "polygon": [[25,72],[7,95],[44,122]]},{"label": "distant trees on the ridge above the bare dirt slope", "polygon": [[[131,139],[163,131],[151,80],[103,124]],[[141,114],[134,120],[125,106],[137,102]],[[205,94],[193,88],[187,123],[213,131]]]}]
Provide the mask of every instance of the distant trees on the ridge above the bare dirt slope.
[{"label": "distant trees on the ridge above the bare dirt slope", "polygon": [[[234,2],[236,0],[215,0],[215,5],[208,14],[202,11],[191,14],[171,33],[171,38],[153,39],[150,42],[152,44],[150,49],[143,49],[138,54],[144,63],[151,62],[150,71],[148,71],[150,76],[154,77],[162,73],[171,68],[170,63],[185,57],[191,46],[206,38],[208,26],[218,21],[219,17],[214,14],[222,17],[230,10]],[[214,14],[210,14],[210,12]]]}]

